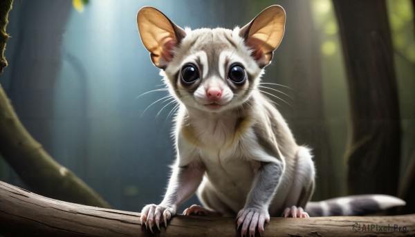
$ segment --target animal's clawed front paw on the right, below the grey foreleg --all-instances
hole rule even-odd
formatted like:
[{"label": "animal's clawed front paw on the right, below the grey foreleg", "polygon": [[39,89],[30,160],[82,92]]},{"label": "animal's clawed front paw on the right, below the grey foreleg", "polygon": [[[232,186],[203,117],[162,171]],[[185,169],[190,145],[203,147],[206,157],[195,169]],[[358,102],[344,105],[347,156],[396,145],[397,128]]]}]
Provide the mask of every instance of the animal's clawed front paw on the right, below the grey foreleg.
[{"label": "animal's clawed front paw on the right, below the grey foreleg", "polygon": [[239,211],[237,216],[238,229],[241,227],[241,236],[246,236],[249,230],[249,236],[255,236],[255,229],[258,228],[259,234],[264,231],[265,222],[270,222],[268,210],[255,207],[246,207]]}]

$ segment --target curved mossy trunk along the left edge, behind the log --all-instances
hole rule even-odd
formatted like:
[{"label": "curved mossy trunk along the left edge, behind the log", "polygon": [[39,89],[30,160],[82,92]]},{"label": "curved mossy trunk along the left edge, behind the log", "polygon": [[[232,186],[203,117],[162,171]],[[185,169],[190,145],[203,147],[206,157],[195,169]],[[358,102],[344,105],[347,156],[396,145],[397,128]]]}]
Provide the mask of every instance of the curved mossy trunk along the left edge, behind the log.
[{"label": "curved mossy trunk along the left edge, behind the log", "polygon": [[[0,37],[2,39],[8,37],[6,23],[11,7],[12,1],[0,1],[0,23],[3,24],[0,26]],[[6,40],[0,40],[0,43],[0,50],[3,52]],[[0,64],[0,66],[3,65]],[[55,162],[42,145],[26,131],[1,86],[0,154],[28,187],[42,195],[85,205],[109,207],[109,204],[91,187]]]}]

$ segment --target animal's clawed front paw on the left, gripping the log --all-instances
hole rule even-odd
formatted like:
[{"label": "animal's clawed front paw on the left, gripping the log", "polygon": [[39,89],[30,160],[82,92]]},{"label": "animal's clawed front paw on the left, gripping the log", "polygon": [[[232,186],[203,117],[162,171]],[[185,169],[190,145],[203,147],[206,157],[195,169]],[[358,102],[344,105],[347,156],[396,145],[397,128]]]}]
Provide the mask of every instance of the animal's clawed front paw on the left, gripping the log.
[{"label": "animal's clawed front paw on the left, gripping the log", "polygon": [[150,228],[153,232],[154,224],[158,230],[160,230],[160,219],[163,216],[163,222],[167,227],[167,220],[170,220],[172,216],[176,215],[176,207],[170,207],[167,205],[146,205],[141,211],[141,223],[145,224],[146,228]]}]

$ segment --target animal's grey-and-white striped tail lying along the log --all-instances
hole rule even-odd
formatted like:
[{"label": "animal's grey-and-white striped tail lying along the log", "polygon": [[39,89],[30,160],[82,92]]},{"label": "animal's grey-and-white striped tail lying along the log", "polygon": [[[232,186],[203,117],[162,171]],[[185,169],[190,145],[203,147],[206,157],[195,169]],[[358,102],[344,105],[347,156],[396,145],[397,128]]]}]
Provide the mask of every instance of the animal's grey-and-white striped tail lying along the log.
[{"label": "animal's grey-and-white striped tail lying along the log", "polygon": [[370,194],[308,202],[305,211],[310,216],[362,216],[405,204],[394,196]]}]

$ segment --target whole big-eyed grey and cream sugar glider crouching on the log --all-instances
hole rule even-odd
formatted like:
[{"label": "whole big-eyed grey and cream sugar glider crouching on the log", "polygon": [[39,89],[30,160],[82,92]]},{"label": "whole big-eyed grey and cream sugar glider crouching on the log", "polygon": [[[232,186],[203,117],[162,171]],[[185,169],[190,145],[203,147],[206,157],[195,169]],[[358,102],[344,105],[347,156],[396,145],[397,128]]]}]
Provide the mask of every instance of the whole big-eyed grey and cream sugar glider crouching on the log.
[{"label": "whole big-eyed grey and cream sugar glider crouching on the log", "polygon": [[[261,234],[270,216],[355,215],[405,202],[354,196],[308,202],[315,186],[310,149],[299,146],[273,102],[259,90],[264,68],[284,35],[286,13],[270,6],[233,30],[180,28],[155,8],[137,15],[151,61],[180,104],[177,152],[163,201],[146,205],[152,231],[194,193],[203,207],[184,214],[237,216],[242,236]],[[304,208],[304,209],[303,209]]]}]

